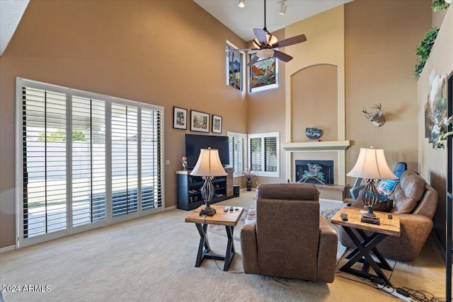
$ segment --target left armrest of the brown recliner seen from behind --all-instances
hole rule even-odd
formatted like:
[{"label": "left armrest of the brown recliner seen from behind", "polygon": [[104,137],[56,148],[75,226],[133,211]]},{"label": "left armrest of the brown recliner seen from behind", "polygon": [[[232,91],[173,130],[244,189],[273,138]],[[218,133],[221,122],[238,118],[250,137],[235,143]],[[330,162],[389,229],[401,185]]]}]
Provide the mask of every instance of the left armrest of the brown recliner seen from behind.
[{"label": "left armrest of the brown recliner seen from behind", "polygon": [[256,213],[254,210],[248,211],[246,221],[241,227],[240,237],[243,270],[246,274],[258,274],[258,245],[256,242]]}]

